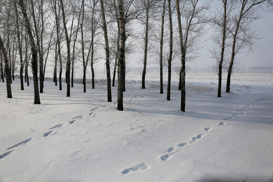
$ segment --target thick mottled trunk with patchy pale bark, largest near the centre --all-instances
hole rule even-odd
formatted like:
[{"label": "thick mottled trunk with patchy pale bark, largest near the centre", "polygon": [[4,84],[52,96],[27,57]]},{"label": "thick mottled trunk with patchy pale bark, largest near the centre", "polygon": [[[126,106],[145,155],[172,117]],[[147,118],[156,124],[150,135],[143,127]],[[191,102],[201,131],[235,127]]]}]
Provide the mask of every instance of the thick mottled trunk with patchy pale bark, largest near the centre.
[{"label": "thick mottled trunk with patchy pale bark, largest near the centre", "polygon": [[120,22],[120,47],[119,47],[119,59],[118,59],[118,97],[117,97],[117,110],[123,111],[123,86],[124,86],[124,57],[125,57],[125,19],[123,1],[118,0],[119,9],[119,22]]}]

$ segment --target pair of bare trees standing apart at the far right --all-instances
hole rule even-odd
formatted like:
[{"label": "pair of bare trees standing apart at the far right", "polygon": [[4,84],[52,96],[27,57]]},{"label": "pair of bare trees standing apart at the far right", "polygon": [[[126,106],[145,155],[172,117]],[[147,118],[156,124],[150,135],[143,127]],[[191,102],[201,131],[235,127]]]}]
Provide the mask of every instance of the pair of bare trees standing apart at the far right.
[{"label": "pair of bare trees standing apart at the far right", "polygon": [[255,41],[259,34],[254,27],[254,22],[260,17],[259,11],[266,0],[222,0],[217,9],[218,14],[213,17],[215,35],[213,41],[215,47],[211,51],[218,66],[218,94],[221,97],[221,79],[223,63],[229,61],[228,78],[226,81],[226,93],[231,89],[231,74],[235,63],[235,56],[247,49],[253,51]]}]

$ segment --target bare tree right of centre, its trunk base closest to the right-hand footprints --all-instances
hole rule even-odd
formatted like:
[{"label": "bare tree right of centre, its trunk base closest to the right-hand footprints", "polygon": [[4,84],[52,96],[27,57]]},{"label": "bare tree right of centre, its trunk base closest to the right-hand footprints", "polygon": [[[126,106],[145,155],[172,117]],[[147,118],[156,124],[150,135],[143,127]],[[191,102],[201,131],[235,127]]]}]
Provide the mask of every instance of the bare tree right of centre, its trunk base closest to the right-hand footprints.
[{"label": "bare tree right of centre, its trunk base closest to the right-hand footprints", "polygon": [[[197,6],[198,0],[189,0],[182,2],[183,10],[180,11],[179,0],[176,0],[176,12],[179,31],[179,43],[181,54],[181,69],[179,84],[181,85],[181,105],[180,111],[185,112],[186,107],[186,54],[193,50],[198,50],[200,37],[204,33],[204,26],[209,22],[206,11],[209,9],[209,2],[200,7]],[[183,33],[181,24],[181,15],[185,18],[185,31]],[[196,48],[197,47],[197,48]],[[192,48],[192,50],[189,50]]]}]

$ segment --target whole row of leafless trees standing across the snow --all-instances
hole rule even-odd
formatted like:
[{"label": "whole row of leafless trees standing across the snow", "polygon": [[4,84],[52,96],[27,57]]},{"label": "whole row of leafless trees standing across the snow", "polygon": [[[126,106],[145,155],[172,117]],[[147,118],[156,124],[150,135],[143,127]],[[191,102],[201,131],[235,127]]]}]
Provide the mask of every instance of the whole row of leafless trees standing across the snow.
[{"label": "whole row of leafless trees standing across the snow", "polygon": [[226,92],[230,92],[235,56],[244,49],[253,50],[259,38],[253,22],[260,18],[258,10],[266,0],[218,2],[220,5],[211,13],[210,2],[199,0],[3,0],[0,2],[0,71],[3,82],[4,74],[6,76],[8,98],[12,98],[11,83],[17,64],[23,90],[24,77],[28,83],[30,63],[34,104],[40,104],[45,70],[52,68],[53,81],[58,85],[59,79],[62,90],[65,67],[66,91],[70,97],[75,69],[82,69],[83,92],[86,92],[87,66],[92,71],[94,89],[94,65],[104,60],[108,102],[112,102],[111,69],[112,86],[115,86],[117,68],[117,109],[123,110],[127,58],[136,52],[133,50],[142,47],[138,49],[143,55],[142,88],[145,89],[147,64],[157,62],[160,94],[163,94],[165,65],[168,68],[167,100],[170,100],[171,70],[178,65],[180,110],[185,112],[186,62],[198,56],[208,25],[212,25],[215,32],[212,37],[215,47],[211,53],[218,66],[218,97],[221,97],[222,65],[230,60],[226,83]]}]

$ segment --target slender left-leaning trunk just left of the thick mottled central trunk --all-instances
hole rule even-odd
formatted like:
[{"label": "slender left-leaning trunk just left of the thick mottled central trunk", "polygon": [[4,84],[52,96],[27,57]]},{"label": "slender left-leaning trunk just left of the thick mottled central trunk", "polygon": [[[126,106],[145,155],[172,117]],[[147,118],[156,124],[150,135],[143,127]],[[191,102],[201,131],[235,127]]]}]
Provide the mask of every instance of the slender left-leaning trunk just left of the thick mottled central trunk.
[{"label": "slender left-leaning trunk just left of the thick mottled central trunk", "polygon": [[107,25],[105,20],[103,0],[100,0],[100,3],[101,3],[101,10],[102,10],[102,22],[103,22],[103,31],[104,31],[104,40],[105,40],[105,53],[106,53],[105,64],[106,64],[106,75],[107,75],[107,95],[108,95],[108,102],[112,102],[109,41],[108,41]]}]

